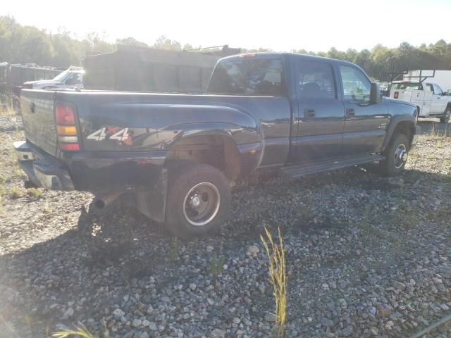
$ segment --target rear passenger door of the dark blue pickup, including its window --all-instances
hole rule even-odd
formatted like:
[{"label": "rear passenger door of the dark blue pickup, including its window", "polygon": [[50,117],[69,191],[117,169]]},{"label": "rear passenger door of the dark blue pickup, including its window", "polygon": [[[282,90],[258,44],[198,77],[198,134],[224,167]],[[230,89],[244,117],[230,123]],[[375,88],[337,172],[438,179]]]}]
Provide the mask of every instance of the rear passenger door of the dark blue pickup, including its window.
[{"label": "rear passenger door of the dark blue pickup, including its window", "polygon": [[330,63],[299,59],[295,65],[297,94],[297,161],[342,155],[344,108]]}]

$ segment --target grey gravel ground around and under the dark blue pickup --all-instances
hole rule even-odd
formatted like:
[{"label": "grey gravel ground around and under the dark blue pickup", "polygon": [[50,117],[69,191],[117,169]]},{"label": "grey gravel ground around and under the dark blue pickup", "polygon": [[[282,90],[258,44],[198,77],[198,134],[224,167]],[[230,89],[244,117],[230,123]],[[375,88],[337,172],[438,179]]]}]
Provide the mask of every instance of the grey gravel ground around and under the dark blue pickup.
[{"label": "grey gravel ground around and under the dark blue pickup", "polygon": [[369,166],[242,182],[221,232],[183,242],[127,206],[93,217],[91,194],[27,188],[18,122],[0,123],[0,337],[78,322],[99,337],[271,337],[264,226],[285,242],[287,337],[409,337],[451,313],[450,137],[422,136],[395,179]]}]

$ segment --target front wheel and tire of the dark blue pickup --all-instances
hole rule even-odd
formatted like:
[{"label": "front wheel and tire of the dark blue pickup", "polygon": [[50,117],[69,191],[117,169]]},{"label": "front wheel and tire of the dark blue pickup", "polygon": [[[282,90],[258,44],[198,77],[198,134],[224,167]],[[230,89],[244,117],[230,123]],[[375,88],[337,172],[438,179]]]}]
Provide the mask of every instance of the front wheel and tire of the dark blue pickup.
[{"label": "front wheel and tire of the dark blue pickup", "polygon": [[[403,151],[405,151],[405,154]],[[407,163],[408,151],[409,139],[407,139],[407,136],[404,134],[394,134],[387,149],[383,152],[385,160],[379,163],[380,173],[384,176],[400,175]]]}]

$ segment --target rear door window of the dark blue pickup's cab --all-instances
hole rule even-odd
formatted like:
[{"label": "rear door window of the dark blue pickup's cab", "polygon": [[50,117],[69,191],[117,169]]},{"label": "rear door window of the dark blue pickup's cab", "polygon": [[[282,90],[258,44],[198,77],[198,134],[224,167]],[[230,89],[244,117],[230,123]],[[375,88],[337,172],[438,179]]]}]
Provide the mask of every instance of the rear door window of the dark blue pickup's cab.
[{"label": "rear door window of the dark blue pickup's cab", "polygon": [[297,72],[300,99],[335,99],[335,82],[330,64],[299,61]]}]

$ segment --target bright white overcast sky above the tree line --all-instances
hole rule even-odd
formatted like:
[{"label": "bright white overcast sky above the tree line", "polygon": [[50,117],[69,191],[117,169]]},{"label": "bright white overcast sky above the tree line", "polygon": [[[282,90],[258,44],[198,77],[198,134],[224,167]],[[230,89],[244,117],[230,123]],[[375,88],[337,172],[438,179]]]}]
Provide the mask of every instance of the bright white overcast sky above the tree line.
[{"label": "bright white overcast sky above the tree line", "polygon": [[154,44],[161,35],[182,45],[275,51],[371,49],[409,42],[451,42],[451,0],[4,0],[0,15],[79,39],[100,32]]}]

